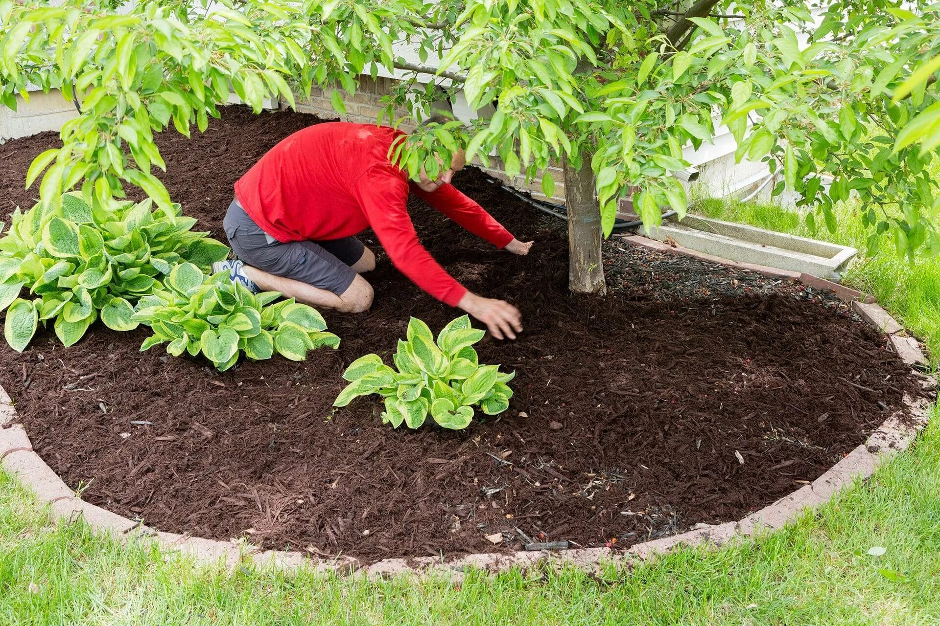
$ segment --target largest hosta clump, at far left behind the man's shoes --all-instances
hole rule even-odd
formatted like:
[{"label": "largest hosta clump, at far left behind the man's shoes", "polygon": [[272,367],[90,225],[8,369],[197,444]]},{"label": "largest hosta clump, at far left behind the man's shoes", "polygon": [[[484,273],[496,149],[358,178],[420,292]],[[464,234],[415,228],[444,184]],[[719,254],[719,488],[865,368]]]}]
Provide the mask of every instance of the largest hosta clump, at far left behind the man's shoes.
[{"label": "largest hosta clump, at far left behind the man's shoes", "polygon": [[[0,311],[4,335],[23,351],[39,323],[55,319],[63,344],[81,339],[100,315],[108,328],[132,330],[133,307],[181,261],[208,267],[224,259],[225,244],[193,232],[180,206],[154,209],[152,201],[89,206],[80,193],[60,206],[17,208],[0,237]],[[0,224],[0,231],[2,231]],[[34,298],[20,298],[23,289]]]}]

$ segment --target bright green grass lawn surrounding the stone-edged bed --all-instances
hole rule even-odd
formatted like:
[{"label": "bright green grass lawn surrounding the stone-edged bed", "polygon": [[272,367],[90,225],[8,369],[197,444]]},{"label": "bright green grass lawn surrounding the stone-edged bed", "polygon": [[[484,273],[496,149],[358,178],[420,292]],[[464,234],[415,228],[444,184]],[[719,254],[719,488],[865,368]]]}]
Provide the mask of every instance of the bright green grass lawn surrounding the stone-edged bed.
[{"label": "bright green grass lawn surrounding the stone-edged bed", "polygon": [[[767,207],[703,203],[699,210],[802,232],[795,215]],[[863,235],[842,224],[832,239],[857,245]],[[859,263],[846,282],[874,294],[940,354],[940,261],[910,267],[885,251]],[[81,524],[53,526],[0,473],[2,625],[938,622],[936,418],[913,450],[791,527],[600,578],[572,570],[470,573],[454,586],[440,577],[368,582],[202,568],[152,546],[122,547]]]}]

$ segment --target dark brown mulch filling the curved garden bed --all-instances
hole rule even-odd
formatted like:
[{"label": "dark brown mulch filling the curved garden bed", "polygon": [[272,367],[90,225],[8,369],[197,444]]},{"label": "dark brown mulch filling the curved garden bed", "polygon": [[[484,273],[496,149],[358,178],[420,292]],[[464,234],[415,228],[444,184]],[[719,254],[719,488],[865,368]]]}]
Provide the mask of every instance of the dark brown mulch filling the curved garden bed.
[{"label": "dark brown mulch filling the curved garden bed", "polygon": [[[231,185],[316,118],[227,108],[204,134],[161,138],[172,196],[216,237]],[[0,146],[4,213],[31,206],[29,160],[55,135]],[[342,337],[294,363],[217,374],[199,359],[139,353],[145,329],[94,327],[63,348],[52,329],[0,384],[39,454],[84,497],[164,530],[247,534],[270,548],[364,560],[518,549],[529,541],[618,546],[738,519],[812,481],[862,443],[909,389],[872,329],[817,292],[727,267],[608,244],[612,293],[568,293],[564,231],[477,171],[457,186],[519,238],[493,251],[427,206],[424,244],[470,289],[516,303],[525,334],[479,344],[515,370],[509,411],[465,432],[392,430],[380,403],[334,410],[344,367],[387,355],[409,315],[458,312],[380,257],[368,313],[326,313]],[[368,239],[368,236],[366,237]],[[499,545],[485,535],[502,532]]]}]

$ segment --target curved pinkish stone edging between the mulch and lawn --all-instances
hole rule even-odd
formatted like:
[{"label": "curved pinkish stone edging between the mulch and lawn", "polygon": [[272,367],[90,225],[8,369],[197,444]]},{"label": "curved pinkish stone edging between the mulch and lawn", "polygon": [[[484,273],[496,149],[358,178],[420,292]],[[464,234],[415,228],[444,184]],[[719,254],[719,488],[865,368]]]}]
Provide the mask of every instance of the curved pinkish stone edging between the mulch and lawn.
[{"label": "curved pinkish stone edging between the mulch and lawn", "polygon": [[[841,287],[841,285],[838,286]],[[858,299],[854,299],[853,308],[863,319],[888,336],[901,359],[915,368],[914,372],[921,377],[925,389],[935,388],[936,381],[932,376],[921,374],[916,369],[926,363],[917,341],[906,336],[903,328],[894,318],[881,306]],[[913,418],[910,420],[911,423],[901,423],[896,417],[888,418],[864,444],[852,450],[823,476],[812,481],[811,484],[800,487],[789,496],[784,496],[770,506],[752,512],[737,522],[698,527],[672,537],[637,543],[625,551],[613,551],[609,548],[580,548],[556,553],[474,554],[453,560],[442,560],[439,557],[387,558],[360,567],[359,561],[352,557],[311,558],[303,552],[260,550],[242,541],[219,542],[158,531],[144,526],[141,522],[89,504],[72,492],[65,482],[39,458],[39,454],[33,451],[23,425],[13,423],[16,419],[16,411],[2,387],[0,387],[0,466],[14,474],[22,484],[31,488],[40,502],[50,504],[56,522],[64,520],[71,523],[83,518],[86,524],[95,531],[110,533],[124,542],[155,541],[166,552],[188,555],[200,563],[221,562],[229,568],[253,563],[262,568],[274,568],[287,572],[306,568],[320,572],[355,572],[367,576],[443,571],[460,577],[463,569],[468,567],[496,572],[511,567],[530,567],[541,562],[555,565],[569,564],[597,571],[603,562],[626,565],[664,554],[681,545],[695,546],[707,543],[717,546],[735,538],[752,537],[763,529],[783,527],[807,508],[822,504],[856,479],[870,477],[885,454],[894,450],[903,450],[908,446],[917,432],[927,424],[931,403],[909,395],[905,395],[904,402],[911,412]]]}]

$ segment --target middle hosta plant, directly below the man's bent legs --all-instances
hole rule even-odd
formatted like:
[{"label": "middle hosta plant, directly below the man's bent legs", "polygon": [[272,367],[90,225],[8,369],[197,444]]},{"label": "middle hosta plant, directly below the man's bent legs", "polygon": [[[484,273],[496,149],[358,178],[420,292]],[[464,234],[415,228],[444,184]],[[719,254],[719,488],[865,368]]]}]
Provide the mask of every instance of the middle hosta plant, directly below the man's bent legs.
[{"label": "middle hosta plant, directly below the man's bent legs", "polygon": [[147,324],[153,335],[141,351],[169,342],[166,352],[200,352],[220,372],[248,359],[271,359],[274,352],[291,360],[304,360],[308,350],[323,345],[337,348],[339,338],[325,332],[326,322],[313,307],[293,299],[271,304],[280,294],[252,294],[241,283],[228,280],[227,271],[206,276],[191,263],[173,267],[159,289],[141,298],[132,320]]}]

